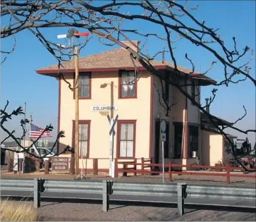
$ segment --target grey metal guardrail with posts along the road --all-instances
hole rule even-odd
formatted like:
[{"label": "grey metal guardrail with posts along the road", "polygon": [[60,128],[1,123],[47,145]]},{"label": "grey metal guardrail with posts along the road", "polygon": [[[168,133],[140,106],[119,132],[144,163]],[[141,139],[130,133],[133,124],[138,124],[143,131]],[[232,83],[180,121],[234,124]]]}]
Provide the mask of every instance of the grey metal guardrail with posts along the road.
[{"label": "grey metal guardrail with posts along the road", "polygon": [[184,214],[185,204],[256,209],[254,187],[186,185],[185,183],[126,183],[109,180],[44,180],[42,178],[1,180],[1,197],[30,197],[32,195],[35,209],[40,207],[42,197],[102,199],[102,210],[105,212],[109,210],[110,200],[174,203],[178,204],[179,215]]}]

